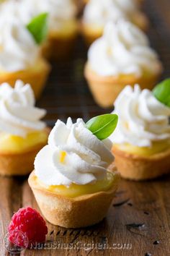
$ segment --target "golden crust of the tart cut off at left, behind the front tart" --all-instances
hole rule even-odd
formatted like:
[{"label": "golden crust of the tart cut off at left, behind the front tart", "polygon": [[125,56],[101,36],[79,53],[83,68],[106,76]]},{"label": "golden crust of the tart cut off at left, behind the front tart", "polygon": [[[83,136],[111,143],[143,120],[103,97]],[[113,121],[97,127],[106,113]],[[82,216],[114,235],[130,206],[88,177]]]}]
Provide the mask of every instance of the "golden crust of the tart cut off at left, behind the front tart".
[{"label": "golden crust of the tart cut off at left, behind the front tart", "polygon": [[38,142],[27,150],[16,153],[0,150],[0,175],[20,176],[30,174],[34,167],[35,156],[48,142],[50,128],[45,128],[44,132],[47,135],[47,140]]}]

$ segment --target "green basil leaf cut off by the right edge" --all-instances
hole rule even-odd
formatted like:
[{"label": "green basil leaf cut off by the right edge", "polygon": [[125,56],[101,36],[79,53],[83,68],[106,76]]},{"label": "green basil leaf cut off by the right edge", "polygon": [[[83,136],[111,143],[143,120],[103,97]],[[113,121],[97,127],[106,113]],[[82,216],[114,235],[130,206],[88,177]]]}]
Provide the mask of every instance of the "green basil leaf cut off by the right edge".
[{"label": "green basil leaf cut off by the right edge", "polygon": [[170,78],[160,82],[153,88],[153,95],[158,101],[170,107]]}]

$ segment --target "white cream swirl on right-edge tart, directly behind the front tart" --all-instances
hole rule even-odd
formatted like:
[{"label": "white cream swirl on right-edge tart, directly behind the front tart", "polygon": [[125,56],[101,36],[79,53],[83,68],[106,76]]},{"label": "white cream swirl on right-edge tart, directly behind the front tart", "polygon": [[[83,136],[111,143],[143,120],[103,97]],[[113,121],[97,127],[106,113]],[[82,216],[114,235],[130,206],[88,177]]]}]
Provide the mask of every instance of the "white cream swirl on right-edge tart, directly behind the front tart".
[{"label": "white cream swirl on right-edge tart, directly behind the front tart", "polygon": [[119,116],[117,128],[109,137],[113,143],[151,147],[153,142],[170,139],[170,108],[150,90],[126,86],[115,101],[113,113]]}]

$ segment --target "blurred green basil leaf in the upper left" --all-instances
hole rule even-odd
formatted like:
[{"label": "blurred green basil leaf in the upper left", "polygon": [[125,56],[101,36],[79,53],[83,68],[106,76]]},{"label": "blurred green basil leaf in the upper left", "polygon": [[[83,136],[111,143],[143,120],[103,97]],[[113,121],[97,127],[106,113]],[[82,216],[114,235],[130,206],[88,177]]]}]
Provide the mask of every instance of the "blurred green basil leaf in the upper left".
[{"label": "blurred green basil leaf in the upper left", "polygon": [[30,31],[37,44],[42,43],[48,35],[48,13],[42,13],[34,17],[29,24],[27,30]]}]

